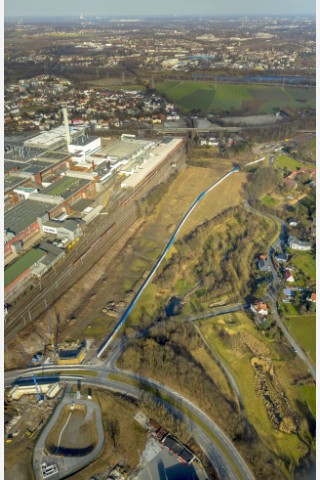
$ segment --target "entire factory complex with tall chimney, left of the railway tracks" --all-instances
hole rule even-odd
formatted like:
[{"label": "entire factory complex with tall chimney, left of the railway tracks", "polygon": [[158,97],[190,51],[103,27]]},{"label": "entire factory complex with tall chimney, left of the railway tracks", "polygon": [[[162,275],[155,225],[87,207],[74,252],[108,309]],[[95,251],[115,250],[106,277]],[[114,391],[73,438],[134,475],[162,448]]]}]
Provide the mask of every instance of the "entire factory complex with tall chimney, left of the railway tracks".
[{"label": "entire factory complex with tall chimney, left of the railway tracks", "polygon": [[112,195],[143,191],[158,171],[175,166],[183,146],[177,138],[91,137],[66,118],[32,138],[5,137],[5,302],[63,260]]}]

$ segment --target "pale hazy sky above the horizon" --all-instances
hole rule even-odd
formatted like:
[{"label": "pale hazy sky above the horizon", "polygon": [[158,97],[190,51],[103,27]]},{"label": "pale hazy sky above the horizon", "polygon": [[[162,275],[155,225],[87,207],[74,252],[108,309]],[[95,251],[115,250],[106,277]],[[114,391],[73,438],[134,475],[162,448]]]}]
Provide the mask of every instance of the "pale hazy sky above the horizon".
[{"label": "pale hazy sky above the horizon", "polygon": [[4,0],[5,16],[293,15],[316,13],[316,0]]}]

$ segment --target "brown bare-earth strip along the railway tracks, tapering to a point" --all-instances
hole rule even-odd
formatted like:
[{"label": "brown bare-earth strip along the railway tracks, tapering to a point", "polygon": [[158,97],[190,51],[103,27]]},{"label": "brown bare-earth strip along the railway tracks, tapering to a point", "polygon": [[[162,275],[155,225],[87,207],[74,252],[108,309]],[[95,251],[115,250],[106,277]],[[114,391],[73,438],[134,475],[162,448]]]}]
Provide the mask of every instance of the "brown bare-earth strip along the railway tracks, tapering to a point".
[{"label": "brown bare-earth strip along the railway tracks, tapering to a point", "polygon": [[[128,240],[135,235],[142,224],[142,220],[135,222],[119,242],[93,266],[93,268],[62,295],[50,309],[50,318],[56,342],[79,338],[81,332],[97,311],[105,305],[106,292],[108,295],[117,285],[117,269],[115,261],[124,249]],[[59,331],[57,332],[57,324]],[[5,369],[26,367],[22,351],[34,355],[43,350],[50,342],[50,328],[48,315],[42,315],[32,325],[27,326],[18,336],[7,345],[4,355]]]}]

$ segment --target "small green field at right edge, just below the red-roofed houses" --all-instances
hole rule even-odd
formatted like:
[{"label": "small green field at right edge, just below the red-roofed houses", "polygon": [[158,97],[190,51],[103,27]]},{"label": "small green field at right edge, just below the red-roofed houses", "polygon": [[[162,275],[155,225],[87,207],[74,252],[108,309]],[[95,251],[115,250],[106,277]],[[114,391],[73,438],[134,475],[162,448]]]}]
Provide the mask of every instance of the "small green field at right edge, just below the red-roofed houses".
[{"label": "small green field at right edge, just below the red-roofed houses", "polygon": [[301,347],[316,361],[316,315],[290,316],[286,323]]}]

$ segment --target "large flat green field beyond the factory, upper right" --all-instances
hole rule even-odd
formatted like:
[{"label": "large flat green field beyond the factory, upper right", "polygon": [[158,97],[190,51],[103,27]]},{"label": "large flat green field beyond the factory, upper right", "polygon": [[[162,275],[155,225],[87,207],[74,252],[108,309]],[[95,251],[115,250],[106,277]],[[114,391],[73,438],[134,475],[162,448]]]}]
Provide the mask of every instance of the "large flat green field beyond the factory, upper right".
[{"label": "large flat green field beyond the factory, upper right", "polygon": [[313,89],[174,80],[158,83],[156,89],[184,112],[201,110],[206,114],[233,110],[263,114],[286,107],[315,109]]}]

